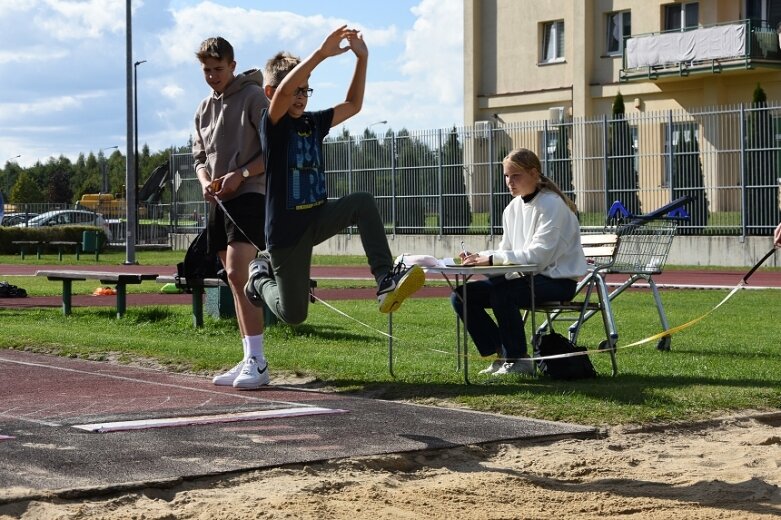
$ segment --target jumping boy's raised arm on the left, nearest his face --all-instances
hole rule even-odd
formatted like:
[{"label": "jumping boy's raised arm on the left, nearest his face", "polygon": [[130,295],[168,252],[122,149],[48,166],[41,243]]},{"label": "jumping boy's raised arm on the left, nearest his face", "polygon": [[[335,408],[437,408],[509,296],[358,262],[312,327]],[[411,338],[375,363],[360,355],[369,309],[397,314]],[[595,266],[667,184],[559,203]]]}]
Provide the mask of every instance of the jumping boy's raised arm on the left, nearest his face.
[{"label": "jumping boy's raised arm on the left, nearest his face", "polygon": [[320,47],[305,58],[301,63],[285,76],[282,83],[274,91],[274,95],[271,97],[271,104],[269,105],[268,116],[272,124],[277,124],[280,119],[290,108],[290,104],[296,95],[296,90],[306,83],[309,75],[317,67],[320,62],[331,56],[338,56],[350,49],[349,46],[341,47],[342,40],[354,36],[357,31],[354,29],[348,29],[346,25],[343,25],[329,34]]}]

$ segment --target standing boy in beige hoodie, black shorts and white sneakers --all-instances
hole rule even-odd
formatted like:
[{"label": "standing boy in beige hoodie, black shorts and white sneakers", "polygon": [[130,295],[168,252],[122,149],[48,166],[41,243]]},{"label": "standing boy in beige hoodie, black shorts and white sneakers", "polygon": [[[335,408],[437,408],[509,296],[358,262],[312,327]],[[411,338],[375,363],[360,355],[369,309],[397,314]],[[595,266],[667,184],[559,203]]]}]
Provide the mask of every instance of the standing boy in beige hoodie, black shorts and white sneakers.
[{"label": "standing boy in beige hoodie, black shorts and white sneakers", "polygon": [[265,247],[261,223],[266,184],[258,132],[260,113],[268,107],[268,100],[259,70],[235,74],[233,47],[224,38],[207,38],[195,55],[212,89],[195,112],[195,172],[210,203],[206,224],[209,251],[217,252],[228,274],[244,349],[242,360],[212,382],[255,389],[269,383],[263,352],[263,310],[247,300],[243,288],[247,266],[257,252],[255,246]]}]

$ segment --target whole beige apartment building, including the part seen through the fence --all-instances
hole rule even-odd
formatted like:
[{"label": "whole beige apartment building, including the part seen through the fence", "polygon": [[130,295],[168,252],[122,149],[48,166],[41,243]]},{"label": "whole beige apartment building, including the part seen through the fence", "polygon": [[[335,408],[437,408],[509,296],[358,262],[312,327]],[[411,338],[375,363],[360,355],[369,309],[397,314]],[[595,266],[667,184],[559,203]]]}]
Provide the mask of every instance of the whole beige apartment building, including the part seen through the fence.
[{"label": "whole beige apartment building, including the part seen through the fence", "polygon": [[[781,0],[465,0],[464,25],[464,119],[491,137],[465,147],[485,165],[467,172],[470,193],[490,191],[497,157],[526,146],[586,211],[619,198],[655,208],[690,194],[700,230],[749,204],[767,215],[757,232],[777,222],[781,154],[757,173],[746,157],[760,152],[745,148],[780,149],[778,110],[666,113],[750,108],[758,84],[768,101],[781,100]],[[612,116],[619,92],[620,125]],[[771,135],[761,143],[741,134],[750,132],[741,122],[760,116]],[[566,175],[550,167],[557,157]]]}]

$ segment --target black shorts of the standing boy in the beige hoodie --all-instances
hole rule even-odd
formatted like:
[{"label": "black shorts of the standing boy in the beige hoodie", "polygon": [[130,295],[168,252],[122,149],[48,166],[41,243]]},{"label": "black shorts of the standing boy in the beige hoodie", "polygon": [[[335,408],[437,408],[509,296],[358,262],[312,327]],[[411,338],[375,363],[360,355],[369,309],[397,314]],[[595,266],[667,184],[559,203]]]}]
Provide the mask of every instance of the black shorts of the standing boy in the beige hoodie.
[{"label": "black shorts of the standing boy in the beige hoodie", "polygon": [[259,249],[266,249],[266,196],[260,193],[245,193],[222,203],[228,216],[219,204],[209,205],[207,236],[209,253],[225,251],[232,242],[247,242]]}]

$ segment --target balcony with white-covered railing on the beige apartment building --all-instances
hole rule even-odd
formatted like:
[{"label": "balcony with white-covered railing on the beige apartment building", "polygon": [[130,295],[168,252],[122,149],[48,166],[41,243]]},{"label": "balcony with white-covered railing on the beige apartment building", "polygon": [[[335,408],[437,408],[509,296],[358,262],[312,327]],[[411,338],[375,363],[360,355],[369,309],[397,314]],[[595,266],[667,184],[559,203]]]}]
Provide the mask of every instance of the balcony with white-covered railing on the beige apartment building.
[{"label": "balcony with white-covered railing on the beige apartment building", "polygon": [[763,67],[781,67],[779,34],[741,20],[630,36],[624,40],[619,80],[647,81]]}]

